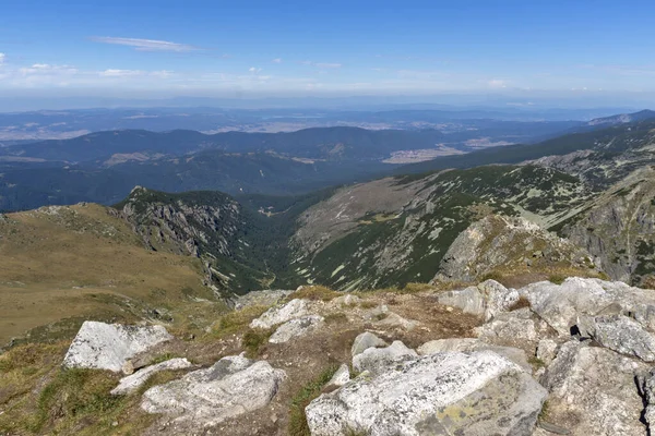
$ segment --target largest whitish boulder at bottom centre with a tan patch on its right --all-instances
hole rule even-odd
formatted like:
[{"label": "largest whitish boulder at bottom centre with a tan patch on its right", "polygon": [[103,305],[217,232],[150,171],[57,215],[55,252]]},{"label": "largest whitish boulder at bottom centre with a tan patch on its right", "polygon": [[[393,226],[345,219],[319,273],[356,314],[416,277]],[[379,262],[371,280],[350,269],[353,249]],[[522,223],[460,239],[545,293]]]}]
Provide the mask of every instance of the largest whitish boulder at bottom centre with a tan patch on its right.
[{"label": "largest whitish boulder at bottom centre with a tan patch on its right", "polygon": [[491,352],[408,358],[306,409],[312,436],[531,435],[546,390]]}]

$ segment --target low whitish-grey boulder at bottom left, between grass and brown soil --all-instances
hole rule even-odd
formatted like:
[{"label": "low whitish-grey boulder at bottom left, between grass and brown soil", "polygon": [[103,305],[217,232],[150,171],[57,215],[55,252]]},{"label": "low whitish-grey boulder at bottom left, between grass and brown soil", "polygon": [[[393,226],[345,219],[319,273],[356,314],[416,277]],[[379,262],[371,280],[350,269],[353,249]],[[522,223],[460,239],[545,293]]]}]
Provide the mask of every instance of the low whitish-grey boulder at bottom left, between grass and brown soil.
[{"label": "low whitish-grey boulder at bottom left, between grass and brown soil", "polygon": [[141,408],[176,421],[213,425],[266,405],[285,378],[265,361],[227,356],[213,366],[155,386],[143,393]]}]

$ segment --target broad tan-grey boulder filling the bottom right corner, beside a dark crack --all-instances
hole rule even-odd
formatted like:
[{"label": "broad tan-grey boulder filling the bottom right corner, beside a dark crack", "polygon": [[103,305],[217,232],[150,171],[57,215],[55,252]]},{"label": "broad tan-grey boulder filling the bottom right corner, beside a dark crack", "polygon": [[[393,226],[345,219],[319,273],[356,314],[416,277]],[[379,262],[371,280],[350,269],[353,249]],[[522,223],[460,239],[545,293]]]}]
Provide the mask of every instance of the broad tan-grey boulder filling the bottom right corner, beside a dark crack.
[{"label": "broad tan-grey boulder filling the bottom right corner, beside a dark crack", "polygon": [[588,341],[561,346],[541,384],[549,390],[545,420],[572,436],[646,436],[636,379],[648,367]]}]

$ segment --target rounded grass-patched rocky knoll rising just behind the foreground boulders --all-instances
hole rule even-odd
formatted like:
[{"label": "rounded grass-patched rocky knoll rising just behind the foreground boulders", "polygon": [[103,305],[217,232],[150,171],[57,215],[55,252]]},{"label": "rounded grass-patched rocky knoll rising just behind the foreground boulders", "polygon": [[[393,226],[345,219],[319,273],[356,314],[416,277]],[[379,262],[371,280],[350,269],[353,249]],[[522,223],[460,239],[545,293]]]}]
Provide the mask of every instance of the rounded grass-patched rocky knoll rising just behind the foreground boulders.
[{"label": "rounded grass-patched rocky knoll rising just behind the foreground boulders", "polygon": [[434,280],[475,281],[498,270],[584,270],[592,265],[591,258],[583,249],[525,218],[488,216],[457,235]]}]

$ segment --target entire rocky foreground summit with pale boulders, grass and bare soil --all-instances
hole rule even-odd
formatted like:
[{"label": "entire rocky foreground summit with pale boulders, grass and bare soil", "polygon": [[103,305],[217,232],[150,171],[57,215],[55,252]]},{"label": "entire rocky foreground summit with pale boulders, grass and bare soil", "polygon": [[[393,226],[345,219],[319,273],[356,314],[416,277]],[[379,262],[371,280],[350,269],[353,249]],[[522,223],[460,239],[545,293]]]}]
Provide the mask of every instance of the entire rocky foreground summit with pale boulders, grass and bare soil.
[{"label": "entire rocky foreground summit with pale boulders, grass and bare soil", "polygon": [[[200,338],[86,323],[27,390],[7,377],[31,374],[31,360],[21,347],[7,352],[0,393],[13,399],[3,397],[0,428],[646,436],[655,423],[652,290],[572,277],[519,289],[309,287],[238,305]],[[46,359],[31,347],[32,360]]]}]

